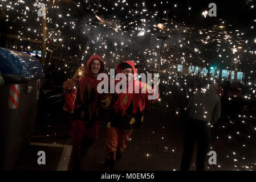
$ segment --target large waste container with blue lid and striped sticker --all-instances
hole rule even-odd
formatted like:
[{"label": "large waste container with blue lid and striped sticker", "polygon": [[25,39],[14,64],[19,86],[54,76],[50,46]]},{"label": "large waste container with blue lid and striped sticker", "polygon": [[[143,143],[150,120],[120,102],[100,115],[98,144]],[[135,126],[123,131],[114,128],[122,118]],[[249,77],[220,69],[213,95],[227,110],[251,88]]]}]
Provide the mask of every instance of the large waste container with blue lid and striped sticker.
[{"label": "large waste container with blue lid and striped sticker", "polygon": [[34,131],[42,65],[35,57],[0,48],[0,170],[13,169]]}]

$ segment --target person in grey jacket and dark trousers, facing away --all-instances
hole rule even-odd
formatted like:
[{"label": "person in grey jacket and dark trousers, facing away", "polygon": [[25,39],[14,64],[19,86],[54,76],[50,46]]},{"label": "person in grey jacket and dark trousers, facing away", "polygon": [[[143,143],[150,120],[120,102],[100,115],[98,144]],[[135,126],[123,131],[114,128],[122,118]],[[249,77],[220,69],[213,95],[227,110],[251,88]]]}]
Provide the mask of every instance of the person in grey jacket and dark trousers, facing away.
[{"label": "person in grey jacket and dark trousers, facing away", "polygon": [[206,154],[210,143],[210,126],[218,121],[221,115],[221,101],[212,82],[204,81],[186,107],[188,126],[184,135],[184,151],[181,171],[188,171],[192,159],[194,144],[197,141],[197,171],[203,171]]}]

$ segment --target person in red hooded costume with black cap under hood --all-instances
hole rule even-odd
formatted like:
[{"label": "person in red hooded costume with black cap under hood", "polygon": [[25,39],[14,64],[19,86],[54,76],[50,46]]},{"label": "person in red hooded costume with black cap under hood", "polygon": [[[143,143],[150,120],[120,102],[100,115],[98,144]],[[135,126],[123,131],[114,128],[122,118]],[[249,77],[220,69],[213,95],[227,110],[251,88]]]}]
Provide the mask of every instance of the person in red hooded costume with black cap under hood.
[{"label": "person in red hooded costume with black cap under hood", "polygon": [[[107,137],[105,145],[105,170],[113,170],[117,160],[121,158],[129,137],[136,125],[140,126],[140,123],[144,119],[145,101],[149,96],[149,85],[147,83],[136,80],[137,70],[135,68],[135,62],[123,61],[117,65],[117,74],[124,73],[126,76],[125,82],[127,86],[123,89],[127,89],[127,93],[115,93],[113,97],[113,107],[109,114],[107,123]],[[121,80],[123,81],[123,80]],[[115,85],[119,80],[115,80]],[[133,92],[128,93],[129,83],[133,85]],[[136,93],[135,90],[139,90]],[[156,87],[154,86],[156,90]],[[153,90],[154,90],[153,89]],[[142,90],[145,92],[143,93]],[[151,94],[154,95],[154,92]],[[116,90],[115,90],[116,92]],[[157,96],[158,100],[159,95]],[[155,100],[155,101],[156,101]]]}]

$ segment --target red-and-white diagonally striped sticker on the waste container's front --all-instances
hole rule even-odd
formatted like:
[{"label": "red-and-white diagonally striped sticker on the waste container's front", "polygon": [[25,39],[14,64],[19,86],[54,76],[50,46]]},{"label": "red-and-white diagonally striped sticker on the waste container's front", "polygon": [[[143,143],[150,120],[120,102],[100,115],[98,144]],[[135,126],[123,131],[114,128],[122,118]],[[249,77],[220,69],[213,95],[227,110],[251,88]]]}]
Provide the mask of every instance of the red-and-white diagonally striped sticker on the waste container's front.
[{"label": "red-and-white diagonally striped sticker on the waste container's front", "polygon": [[18,109],[19,107],[19,93],[21,92],[21,84],[11,84],[8,109]]}]

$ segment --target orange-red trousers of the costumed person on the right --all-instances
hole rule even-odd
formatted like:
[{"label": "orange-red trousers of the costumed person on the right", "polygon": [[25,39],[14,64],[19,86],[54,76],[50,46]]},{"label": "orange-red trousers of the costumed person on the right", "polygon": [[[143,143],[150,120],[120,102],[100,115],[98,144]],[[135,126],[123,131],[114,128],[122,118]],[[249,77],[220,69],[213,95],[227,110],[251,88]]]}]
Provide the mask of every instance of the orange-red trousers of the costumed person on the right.
[{"label": "orange-red trousers of the costumed person on the right", "polygon": [[116,127],[110,127],[107,130],[106,146],[105,146],[105,162],[111,158],[116,160],[116,155],[123,154],[129,141],[132,130],[123,131]]}]

